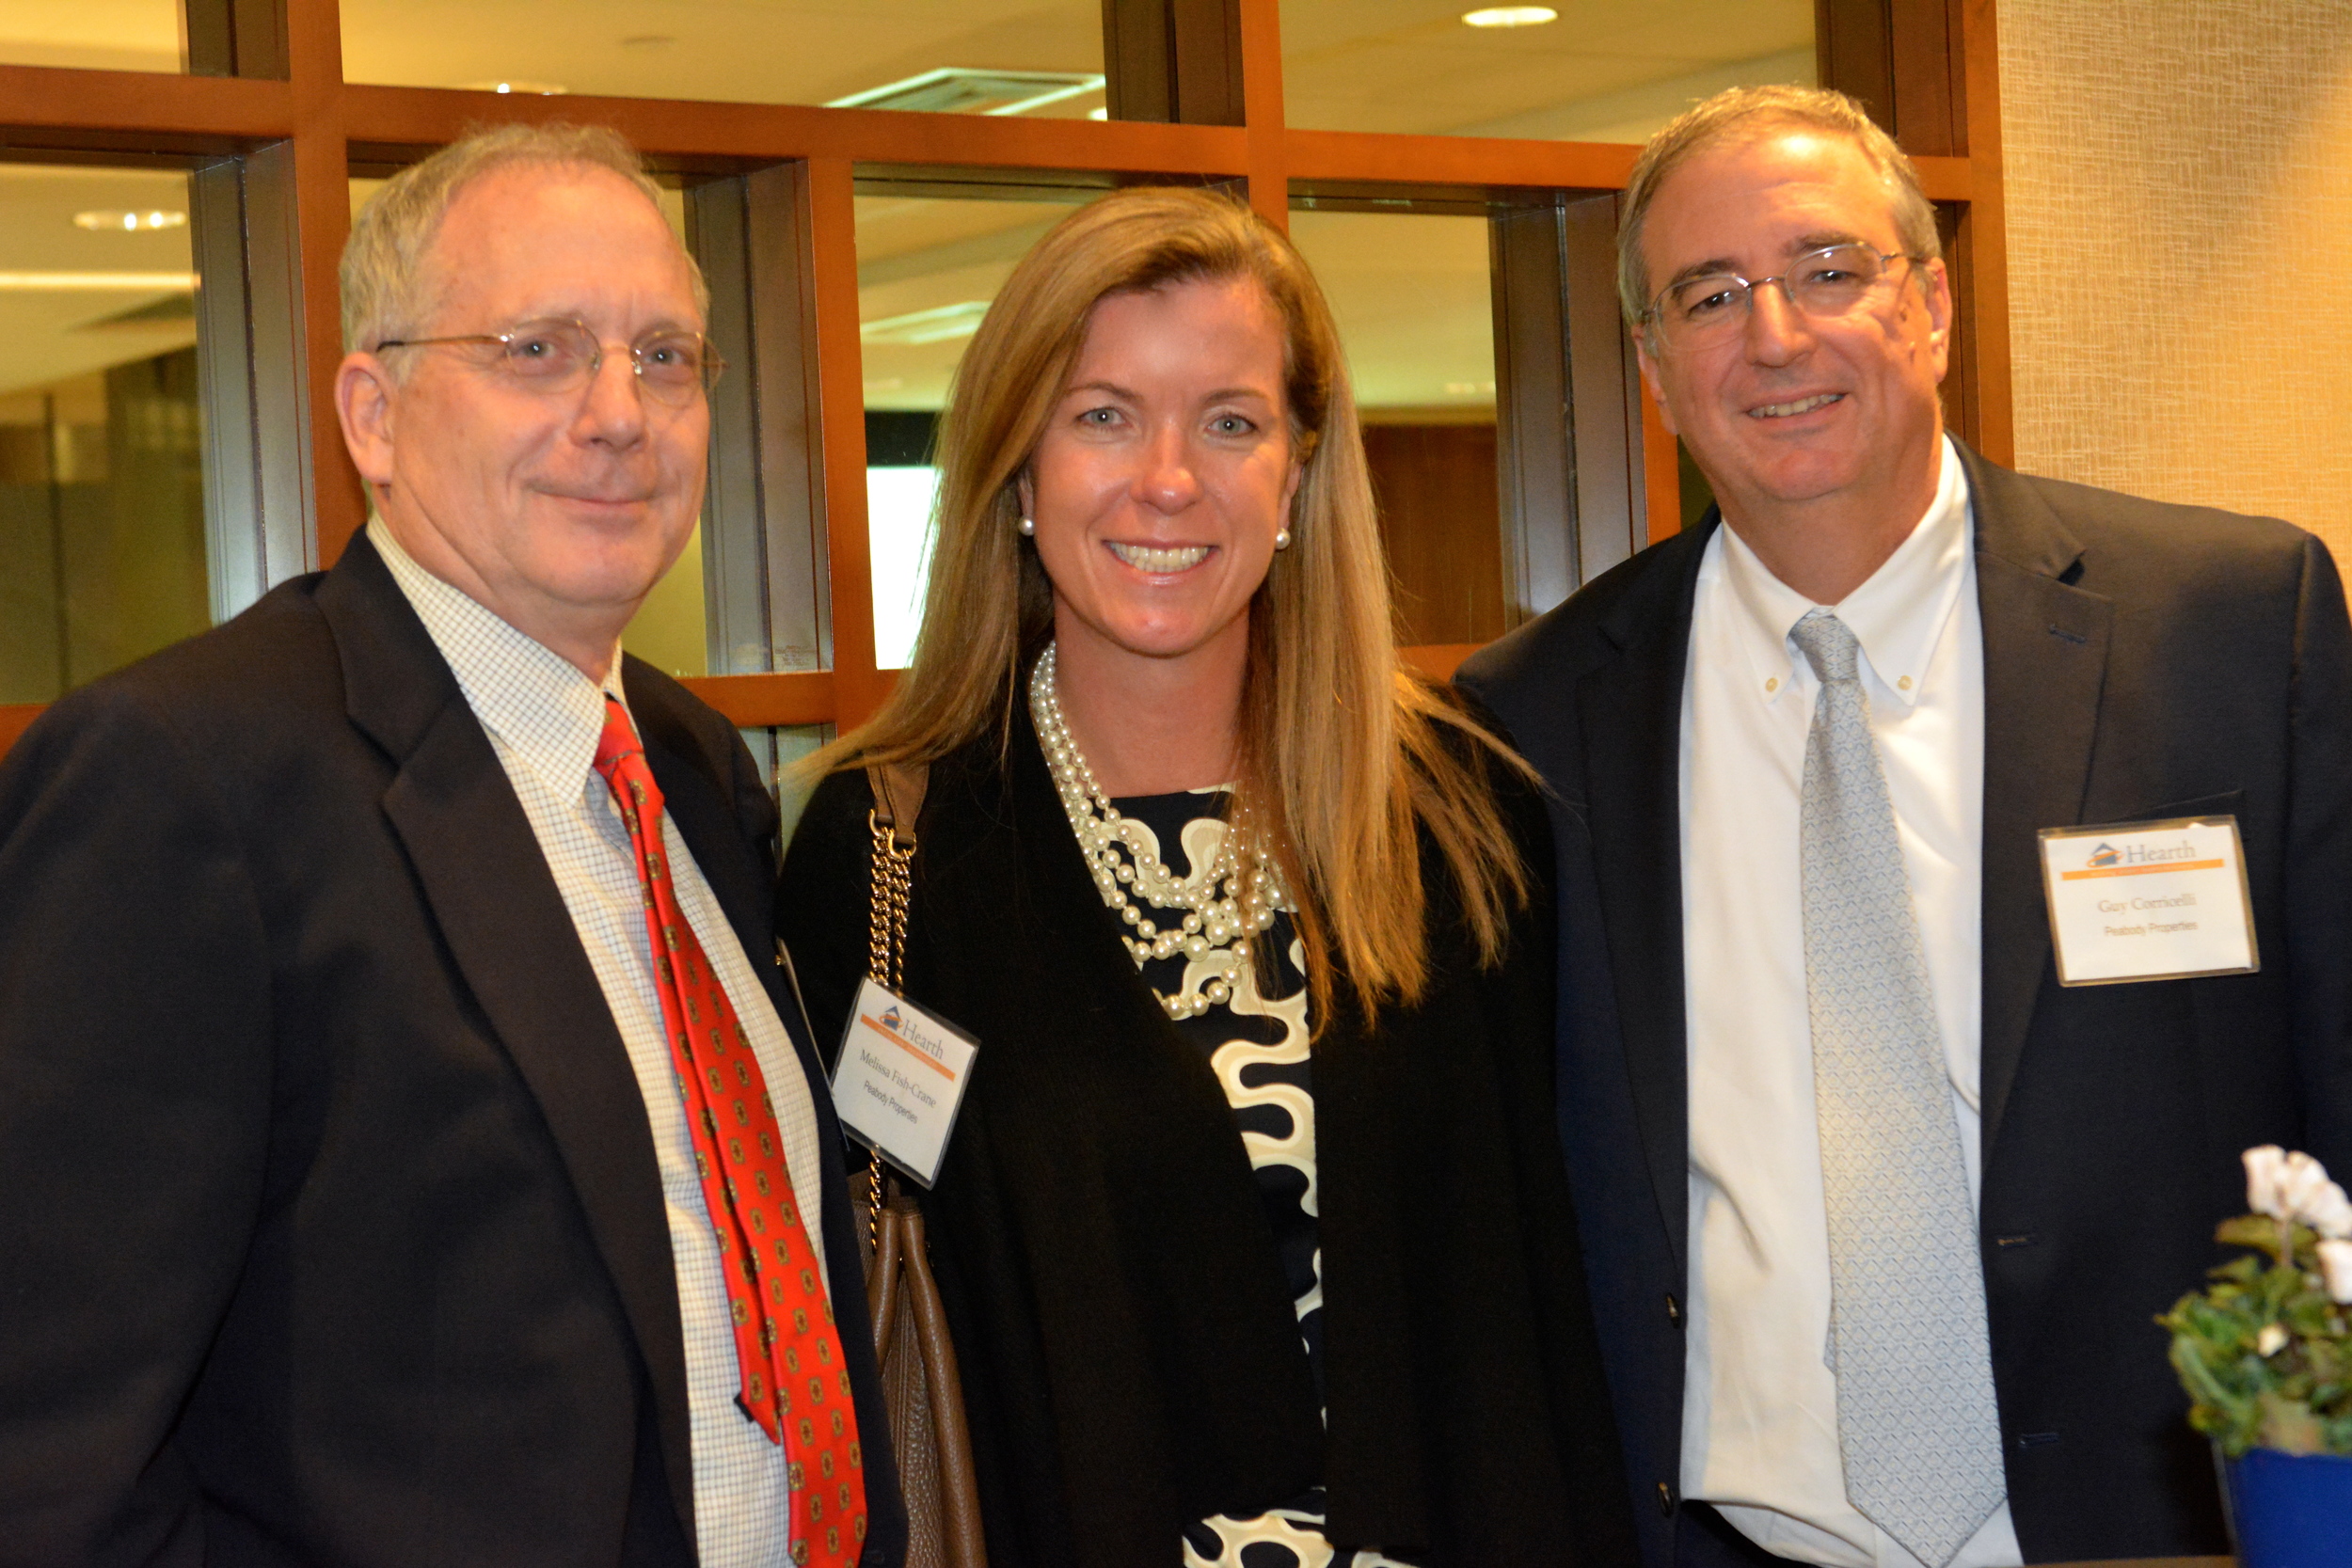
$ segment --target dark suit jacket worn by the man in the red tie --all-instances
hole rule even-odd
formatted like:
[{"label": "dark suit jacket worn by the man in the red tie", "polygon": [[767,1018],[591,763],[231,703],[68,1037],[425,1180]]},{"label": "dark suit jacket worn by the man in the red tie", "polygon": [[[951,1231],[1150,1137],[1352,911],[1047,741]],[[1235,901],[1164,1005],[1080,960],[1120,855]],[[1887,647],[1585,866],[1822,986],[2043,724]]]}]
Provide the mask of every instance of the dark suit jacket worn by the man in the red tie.
[{"label": "dark suit jacket worn by the man in the red tie", "polygon": [[[675,682],[623,679],[670,816],[771,952],[750,757]],[[0,1561],[694,1561],[644,1100],[365,538],[56,703],[0,766]],[[856,1300],[837,1175],[823,1239]],[[866,1563],[896,1563],[889,1446],[866,1462]]]}]

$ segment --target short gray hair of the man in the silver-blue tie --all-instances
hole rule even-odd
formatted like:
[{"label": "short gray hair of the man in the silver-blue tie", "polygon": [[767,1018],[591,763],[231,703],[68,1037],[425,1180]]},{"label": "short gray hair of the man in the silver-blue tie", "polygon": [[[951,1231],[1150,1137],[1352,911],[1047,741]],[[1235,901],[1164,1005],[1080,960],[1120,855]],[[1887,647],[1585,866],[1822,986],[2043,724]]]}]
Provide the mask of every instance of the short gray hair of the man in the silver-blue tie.
[{"label": "short gray hair of the man in the silver-blue tie", "polygon": [[1686,108],[1649,139],[1625,181],[1625,214],[1618,219],[1618,306],[1637,331],[1649,310],[1649,261],[1642,256],[1642,219],[1658,197],[1658,186],[1684,162],[1724,143],[1762,141],[1776,129],[1813,129],[1846,136],[1863,160],[1886,181],[1896,235],[1912,256],[1943,256],[1936,233],[1936,207],[1919,186],[1893,136],[1882,132],[1870,113],[1842,92],[1828,87],[1726,87],[1705,103]]}]

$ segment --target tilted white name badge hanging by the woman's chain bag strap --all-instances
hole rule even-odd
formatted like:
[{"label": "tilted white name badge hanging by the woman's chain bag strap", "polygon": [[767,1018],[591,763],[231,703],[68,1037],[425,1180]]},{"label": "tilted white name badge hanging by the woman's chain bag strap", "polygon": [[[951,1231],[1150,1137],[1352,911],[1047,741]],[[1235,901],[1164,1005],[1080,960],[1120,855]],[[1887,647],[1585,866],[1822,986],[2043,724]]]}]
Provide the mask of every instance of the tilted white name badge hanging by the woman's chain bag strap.
[{"label": "tilted white name badge hanging by the woman's chain bag strap", "polygon": [[842,1030],[833,1112],[858,1143],[929,1187],[978,1053],[981,1041],[868,976]]}]

